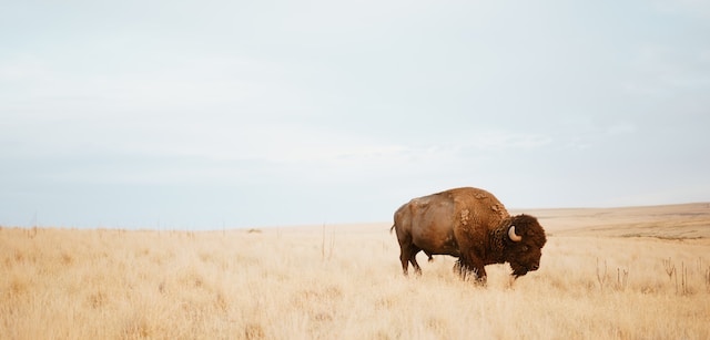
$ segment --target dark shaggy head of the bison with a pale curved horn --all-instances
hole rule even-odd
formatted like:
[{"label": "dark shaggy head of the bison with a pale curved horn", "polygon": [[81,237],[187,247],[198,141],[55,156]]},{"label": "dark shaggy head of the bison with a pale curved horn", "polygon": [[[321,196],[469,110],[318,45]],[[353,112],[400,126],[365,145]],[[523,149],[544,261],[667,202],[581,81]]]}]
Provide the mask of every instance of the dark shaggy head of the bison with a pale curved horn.
[{"label": "dark shaggy head of the bison with a pale curved horn", "polygon": [[540,267],[540,256],[546,241],[545,230],[537,218],[525,214],[510,218],[506,260],[516,278]]}]

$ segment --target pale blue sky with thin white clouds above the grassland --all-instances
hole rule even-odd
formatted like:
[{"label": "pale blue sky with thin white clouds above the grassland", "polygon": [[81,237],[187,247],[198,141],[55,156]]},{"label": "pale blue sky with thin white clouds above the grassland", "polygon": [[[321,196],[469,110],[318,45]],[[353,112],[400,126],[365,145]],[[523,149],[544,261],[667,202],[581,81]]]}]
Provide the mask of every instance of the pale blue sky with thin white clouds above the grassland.
[{"label": "pale blue sky with thin white clouds above the grassland", "polygon": [[4,1],[0,225],[710,202],[709,1]]}]

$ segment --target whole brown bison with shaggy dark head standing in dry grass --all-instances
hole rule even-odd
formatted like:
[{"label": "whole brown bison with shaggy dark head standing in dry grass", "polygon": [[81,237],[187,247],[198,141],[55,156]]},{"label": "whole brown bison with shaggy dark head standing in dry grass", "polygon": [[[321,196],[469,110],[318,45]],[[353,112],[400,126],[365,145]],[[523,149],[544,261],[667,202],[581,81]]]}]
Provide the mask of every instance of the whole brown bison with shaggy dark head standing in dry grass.
[{"label": "whole brown bison with shaggy dark head standing in dry grass", "polygon": [[402,270],[409,262],[417,274],[422,268],[416,255],[458,257],[454,267],[463,278],[468,274],[486,282],[484,266],[510,264],[514,279],[537,270],[546,237],[537,218],[510,216],[490,193],[462,187],[418,197],[395,212],[394,225],[399,241]]}]

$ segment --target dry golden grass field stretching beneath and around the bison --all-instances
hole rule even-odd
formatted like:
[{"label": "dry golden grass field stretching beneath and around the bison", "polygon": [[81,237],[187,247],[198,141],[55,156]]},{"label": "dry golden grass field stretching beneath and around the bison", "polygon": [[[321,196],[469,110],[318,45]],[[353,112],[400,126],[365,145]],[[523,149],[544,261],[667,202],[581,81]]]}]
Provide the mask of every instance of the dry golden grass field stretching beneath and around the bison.
[{"label": "dry golden grass field stretching beneath and around the bison", "polygon": [[710,339],[709,204],[526,213],[540,270],[487,287],[445,256],[403,277],[389,223],[2,227],[0,338]]}]

